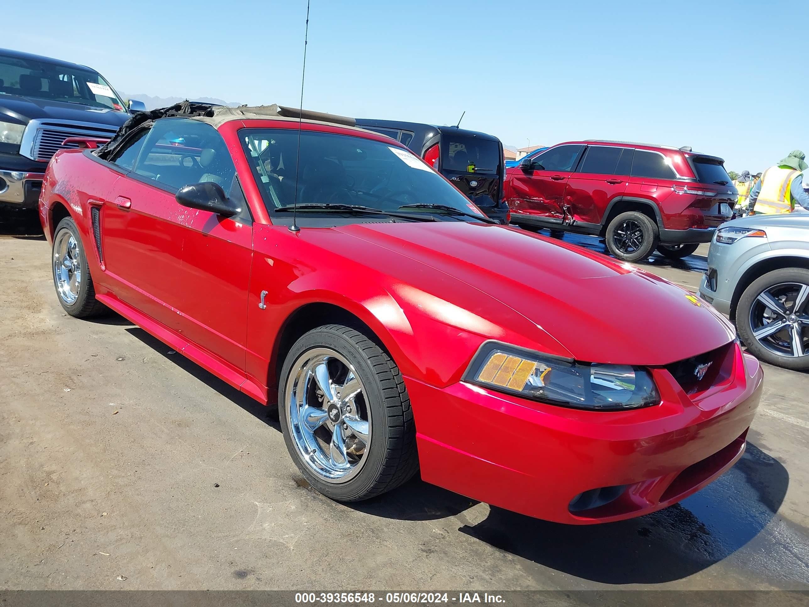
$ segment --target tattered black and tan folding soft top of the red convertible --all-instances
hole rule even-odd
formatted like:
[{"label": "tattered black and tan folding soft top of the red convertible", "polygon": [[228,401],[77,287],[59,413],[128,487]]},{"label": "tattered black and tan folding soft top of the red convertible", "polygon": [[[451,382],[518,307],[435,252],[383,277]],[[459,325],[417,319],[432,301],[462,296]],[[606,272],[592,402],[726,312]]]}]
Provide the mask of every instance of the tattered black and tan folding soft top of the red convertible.
[{"label": "tattered black and tan folding soft top of the red convertible", "polygon": [[168,108],[153,109],[150,112],[139,112],[118,129],[115,137],[110,139],[104,146],[101,146],[93,153],[100,158],[108,159],[126,141],[129,134],[137,130],[142,125],[151,125],[160,118],[183,117],[195,118],[205,121],[218,127],[231,120],[249,120],[256,118],[275,118],[296,120],[327,122],[331,124],[355,126],[354,118],[337,116],[325,112],[314,112],[312,110],[299,108],[289,108],[285,105],[241,105],[238,108],[230,108],[225,105],[204,104],[197,101],[181,101]]}]

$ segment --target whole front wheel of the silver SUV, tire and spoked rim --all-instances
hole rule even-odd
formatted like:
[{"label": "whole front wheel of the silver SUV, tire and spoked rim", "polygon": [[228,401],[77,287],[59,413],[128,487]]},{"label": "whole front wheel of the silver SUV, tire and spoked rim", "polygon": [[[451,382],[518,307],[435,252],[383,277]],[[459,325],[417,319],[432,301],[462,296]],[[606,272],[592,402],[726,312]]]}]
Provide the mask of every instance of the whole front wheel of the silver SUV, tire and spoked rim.
[{"label": "whole front wheel of the silver SUV, tire and spoked rim", "polygon": [[756,278],[739,298],[736,327],[756,358],[809,369],[809,270],[784,268]]}]

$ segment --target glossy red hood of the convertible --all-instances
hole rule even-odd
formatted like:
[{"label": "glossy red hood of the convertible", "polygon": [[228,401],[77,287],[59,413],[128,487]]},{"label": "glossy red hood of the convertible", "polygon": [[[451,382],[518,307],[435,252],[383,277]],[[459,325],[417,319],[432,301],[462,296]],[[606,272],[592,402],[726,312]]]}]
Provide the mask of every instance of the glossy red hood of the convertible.
[{"label": "glossy red hood of the convertible", "polygon": [[[516,228],[436,222],[334,229],[401,256],[391,265],[389,256],[375,255],[372,248],[346,246],[342,254],[353,252],[354,261],[409,288],[434,295],[440,290],[438,296],[457,308],[473,308],[492,325],[532,342],[549,344],[550,336],[580,361],[665,365],[735,338],[724,317],[681,287]],[[474,291],[455,289],[454,281]],[[477,294],[473,301],[470,293]]]}]

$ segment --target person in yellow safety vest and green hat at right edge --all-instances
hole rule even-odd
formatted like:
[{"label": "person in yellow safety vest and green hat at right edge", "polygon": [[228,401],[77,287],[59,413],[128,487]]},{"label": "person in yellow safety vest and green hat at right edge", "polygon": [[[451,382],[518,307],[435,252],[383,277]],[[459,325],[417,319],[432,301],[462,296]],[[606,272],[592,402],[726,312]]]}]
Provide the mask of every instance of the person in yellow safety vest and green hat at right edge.
[{"label": "person in yellow safety vest and green hat at right edge", "polygon": [[[753,186],[748,197],[751,214],[792,213],[809,210],[809,191],[803,189],[803,174],[809,168],[800,150],[790,152],[775,166],[768,168]],[[796,204],[797,203],[797,204]]]}]

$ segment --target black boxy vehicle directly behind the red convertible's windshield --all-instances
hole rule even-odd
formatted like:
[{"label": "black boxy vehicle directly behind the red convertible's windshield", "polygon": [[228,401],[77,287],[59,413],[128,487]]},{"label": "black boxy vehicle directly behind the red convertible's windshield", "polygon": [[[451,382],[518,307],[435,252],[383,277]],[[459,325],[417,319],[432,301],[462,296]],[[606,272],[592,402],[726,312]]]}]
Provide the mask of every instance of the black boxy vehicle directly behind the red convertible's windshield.
[{"label": "black boxy vehicle directly behind the red convertible's windshield", "polygon": [[404,143],[491,219],[509,223],[509,210],[503,197],[505,161],[503,146],[493,135],[434,126],[420,122],[357,118],[357,126],[388,135]]}]

